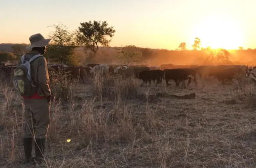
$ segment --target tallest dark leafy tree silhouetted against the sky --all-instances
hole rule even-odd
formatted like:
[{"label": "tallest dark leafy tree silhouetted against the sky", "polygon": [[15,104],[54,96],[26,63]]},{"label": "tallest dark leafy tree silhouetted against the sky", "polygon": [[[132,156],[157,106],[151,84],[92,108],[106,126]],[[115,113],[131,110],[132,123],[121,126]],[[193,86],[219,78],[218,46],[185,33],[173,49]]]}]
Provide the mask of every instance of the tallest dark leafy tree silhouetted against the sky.
[{"label": "tallest dark leafy tree silhouetted against the sky", "polygon": [[95,53],[99,45],[109,46],[111,39],[116,31],[113,27],[108,27],[106,21],[89,21],[80,23],[77,32],[77,41],[79,44],[84,45],[85,49],[91,49]]}]

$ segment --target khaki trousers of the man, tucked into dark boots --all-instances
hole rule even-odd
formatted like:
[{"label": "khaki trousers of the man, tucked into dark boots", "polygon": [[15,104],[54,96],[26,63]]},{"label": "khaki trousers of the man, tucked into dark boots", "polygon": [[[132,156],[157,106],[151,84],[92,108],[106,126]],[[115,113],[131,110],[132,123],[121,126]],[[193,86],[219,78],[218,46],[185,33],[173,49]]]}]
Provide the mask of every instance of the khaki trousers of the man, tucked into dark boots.
[{"label": "khaki trousers of the man, tucked into dark boots", "polygon": [[50,102],[47,99],[24,99],[25,135],[24,138],[46,138],[50,123]]}]

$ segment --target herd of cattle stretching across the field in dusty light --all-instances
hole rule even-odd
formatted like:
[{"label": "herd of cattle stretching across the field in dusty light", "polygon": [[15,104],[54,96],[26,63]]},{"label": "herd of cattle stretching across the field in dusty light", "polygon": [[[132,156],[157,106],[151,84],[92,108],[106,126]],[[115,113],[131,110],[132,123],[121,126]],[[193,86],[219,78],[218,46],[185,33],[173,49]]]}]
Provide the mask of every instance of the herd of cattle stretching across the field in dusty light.
[{"label": "herd of cattle stretching across the field in dusty light", "polygon": [[[11,79],[15,65],[0,64],[0,75],[5,79]],[[67,66],[67,65],[49,65],[49,71],[68,73],[72,80],[82,80],[83,83],[87,79],[93,78],[95,74],[100,75],[122,75],[135,76],[143,81],[142,85],[147,85],[151,81],[156,82],[156,86],[165,80],[166,85],[169,80],[174,80],[176,86],[183,83],[185,88],[185,80],[188,80],[187,86],[193,80],[197,86],[197,76],[200,78],[213,77],[222,83],[230,82],[234,78],[249,77],[256,82],[256,67],[240,66],[240,65],[219,65],[219,66],[175,66],[173,64],[164,64],[160,67],[148,66],[123,66],[123,65],[99,65],[88,64],[86,66]],[[50,73],[51,78],[51,73]]]}]

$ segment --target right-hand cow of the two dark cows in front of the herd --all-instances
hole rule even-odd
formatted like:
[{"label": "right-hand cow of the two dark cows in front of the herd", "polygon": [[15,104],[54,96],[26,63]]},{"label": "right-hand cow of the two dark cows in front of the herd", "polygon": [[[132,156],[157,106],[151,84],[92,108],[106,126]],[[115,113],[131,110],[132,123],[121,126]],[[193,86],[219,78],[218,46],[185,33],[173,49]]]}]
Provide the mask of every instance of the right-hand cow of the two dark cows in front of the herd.
[{"label": "right-hand cow of the two dark cows in front of the herd", "polygon": [[[188,86],[189,83],[191,82],[191,79],[193,79],[194,75],[196,74],[195,70],[193,69],[165,69],[163,72],[166,86],[170,85],[168,81],[170,79],[173,79],[176,83],[176,87],[179,86],[179,83],[182,81],[184,88],[186,88],[185,80],[188,79]],[[194,79],[194,81],[196,82],[196,79]]]}]

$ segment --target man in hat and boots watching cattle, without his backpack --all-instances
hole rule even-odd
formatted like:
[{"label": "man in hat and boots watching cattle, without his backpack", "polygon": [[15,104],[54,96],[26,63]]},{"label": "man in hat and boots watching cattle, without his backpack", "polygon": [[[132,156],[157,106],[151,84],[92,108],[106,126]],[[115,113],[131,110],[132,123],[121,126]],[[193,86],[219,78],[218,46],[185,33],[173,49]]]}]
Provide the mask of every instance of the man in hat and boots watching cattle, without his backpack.
[{"label": "man in hat and boots watching cattle, without his backpack", "polygon": [[[44,54],[46,45],[51,39],[45,39],[41,34],[32,35],[30,38],[31,49],[25,55],[25,60],[29,60],[36,54]],[[24,152],[25,163],[35,161],[40,163],[44,159],[45,141],[48,126],[50,123],[50,100],[51,89],[45,57],[38,57],[31,62],[31,77],[37,91],[31,97],[24,96],[25,102],[25,135]],[[35,144],[35,158],[32,159],[32,144]]]}]

